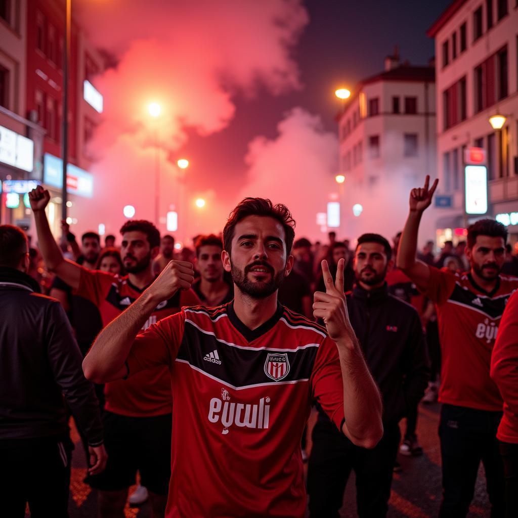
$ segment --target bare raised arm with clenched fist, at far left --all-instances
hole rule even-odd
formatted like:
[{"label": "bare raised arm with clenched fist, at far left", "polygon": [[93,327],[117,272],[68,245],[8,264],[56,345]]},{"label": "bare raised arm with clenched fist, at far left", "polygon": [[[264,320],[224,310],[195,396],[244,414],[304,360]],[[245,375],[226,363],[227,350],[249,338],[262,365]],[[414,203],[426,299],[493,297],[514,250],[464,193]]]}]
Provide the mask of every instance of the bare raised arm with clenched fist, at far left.
[{"label": "bare raised arm with clenched fist, at far left", "polygon": [[45,207],[47,207],[50,200],[49,191],[38,185],[36,189],[29,193],[29,200],[34,213],[34,221],[36,222],[38,247],[47,268],[72,289],[77,290],[81,277],[81,266],[63,257],[60,247],[57,246],[54,236],[50,232],[47,214],[45,214]]}]

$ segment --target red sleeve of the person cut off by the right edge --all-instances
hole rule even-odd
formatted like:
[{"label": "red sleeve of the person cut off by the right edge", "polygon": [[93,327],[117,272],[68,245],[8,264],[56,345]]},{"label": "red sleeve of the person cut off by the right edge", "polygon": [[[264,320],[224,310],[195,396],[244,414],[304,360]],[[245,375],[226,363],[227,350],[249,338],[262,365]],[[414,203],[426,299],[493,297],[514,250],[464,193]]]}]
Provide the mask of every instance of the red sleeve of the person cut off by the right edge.
[{"label": "red sleeve of the person cut off by the right edge", "polygon": [[518,291],[511,295],[498,327],[491,378],[511,412],[518,414]]}]

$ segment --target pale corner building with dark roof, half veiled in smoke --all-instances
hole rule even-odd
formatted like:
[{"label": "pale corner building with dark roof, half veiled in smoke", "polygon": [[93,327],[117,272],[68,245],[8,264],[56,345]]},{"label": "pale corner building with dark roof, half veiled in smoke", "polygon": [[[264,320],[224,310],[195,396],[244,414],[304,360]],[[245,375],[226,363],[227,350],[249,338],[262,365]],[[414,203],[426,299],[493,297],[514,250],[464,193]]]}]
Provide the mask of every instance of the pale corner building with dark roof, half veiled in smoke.
[{"label": "pale corner building with dark roof, half veiled in smoke", "polygon": [[[365,232],[391,239],[404,226],[410,189],[436,176],[434,67],[400,63],[394,54],[382,73],[357,85],[340,114],[341,234],[351,239]],[[420,238],[434,236],[427,218]]]}]

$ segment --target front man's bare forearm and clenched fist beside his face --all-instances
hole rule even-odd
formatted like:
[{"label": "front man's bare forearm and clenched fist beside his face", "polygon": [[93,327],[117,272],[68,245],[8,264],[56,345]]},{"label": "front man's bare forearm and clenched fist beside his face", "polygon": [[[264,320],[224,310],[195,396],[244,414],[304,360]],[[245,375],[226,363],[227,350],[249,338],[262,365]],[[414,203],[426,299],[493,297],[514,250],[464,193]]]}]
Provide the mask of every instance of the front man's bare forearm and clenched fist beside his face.
[{"label": "front man's bare forearm and clenched fist beside his face", "polygon": [[95,339],[83,360],[84,376],[94,383],[106,383],[127,375],[126,359],[138,332],[156,306],[194,281],[191,263],[170,261],[153,284],[135,302],[112,320]]}]

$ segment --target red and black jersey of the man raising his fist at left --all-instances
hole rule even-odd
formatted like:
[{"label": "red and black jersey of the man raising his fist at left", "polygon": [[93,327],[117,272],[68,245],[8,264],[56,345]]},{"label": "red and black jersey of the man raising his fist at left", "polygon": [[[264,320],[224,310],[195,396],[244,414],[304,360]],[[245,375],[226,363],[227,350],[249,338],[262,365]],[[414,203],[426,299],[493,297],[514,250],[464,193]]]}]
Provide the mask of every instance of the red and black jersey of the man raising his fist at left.
[{"label": "red and black jersey of the man raising his fist at left", "polygon": [[[79,287],[74,293],[91,300],[99,308],[105,327],[133,304],[142,292],[127,276],[82,268]],[[199,299],[193,291],[178,291],[156,307],[142,330],[165,316],[178,313],[182,306],[198,303]],[[171,412],[171,384],[165,367],[146,370],[131,380],[106,383],[104,393],[106,410],[117,414],[149,417]]]}]

